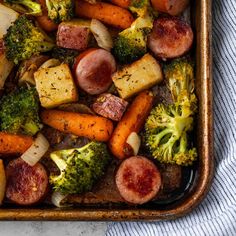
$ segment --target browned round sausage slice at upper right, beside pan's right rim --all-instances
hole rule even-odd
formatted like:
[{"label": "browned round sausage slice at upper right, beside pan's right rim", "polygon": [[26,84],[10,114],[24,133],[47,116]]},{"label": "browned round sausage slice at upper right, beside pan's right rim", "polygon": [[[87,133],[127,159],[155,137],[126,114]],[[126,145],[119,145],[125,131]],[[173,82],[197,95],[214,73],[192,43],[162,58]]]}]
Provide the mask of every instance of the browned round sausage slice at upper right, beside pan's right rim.
[{"label": "browned round sausage slice at upper right, beside pan's right rim", "polygon": [[186,53],[193,43],[189,24],[177,17],[163,17],[154,21],[148,38],[148,47],[155,56],[166,59]]}]

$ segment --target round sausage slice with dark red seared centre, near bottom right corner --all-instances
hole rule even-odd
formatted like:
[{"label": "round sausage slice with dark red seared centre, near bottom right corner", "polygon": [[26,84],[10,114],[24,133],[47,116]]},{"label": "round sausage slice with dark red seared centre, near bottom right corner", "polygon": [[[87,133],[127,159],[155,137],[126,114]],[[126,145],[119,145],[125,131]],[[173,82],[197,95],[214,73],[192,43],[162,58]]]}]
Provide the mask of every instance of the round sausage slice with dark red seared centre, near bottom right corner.
[{"label": "round sausage slice with dark red seared centre, near bottom right corner", "polygon": [[161,174],[147,158],[133,156],[121,163],[115,181],[120,195],[127,202],[143,204],[157,195],[161,187]]}]

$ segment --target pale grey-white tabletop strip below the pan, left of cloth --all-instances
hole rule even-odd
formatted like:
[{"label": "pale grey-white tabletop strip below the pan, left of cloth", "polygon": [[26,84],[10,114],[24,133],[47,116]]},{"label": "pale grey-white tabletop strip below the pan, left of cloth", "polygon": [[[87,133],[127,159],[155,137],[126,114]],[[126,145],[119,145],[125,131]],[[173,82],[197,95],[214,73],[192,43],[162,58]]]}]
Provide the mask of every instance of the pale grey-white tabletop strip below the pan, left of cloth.
[{"label": "pale grey-white tabletop strip below the pan, left of cloth", "polygon": [[104,236],[103,222],[0,222],[0,236]]}]

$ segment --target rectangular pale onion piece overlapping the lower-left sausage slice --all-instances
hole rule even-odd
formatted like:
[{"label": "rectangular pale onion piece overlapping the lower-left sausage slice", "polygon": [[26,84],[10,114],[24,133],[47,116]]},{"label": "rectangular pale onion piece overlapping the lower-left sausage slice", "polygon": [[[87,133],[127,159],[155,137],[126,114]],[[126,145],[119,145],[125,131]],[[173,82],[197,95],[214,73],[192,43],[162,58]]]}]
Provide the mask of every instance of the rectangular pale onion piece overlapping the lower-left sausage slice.
[{"label": "rectangular pale onion piece overlapping the lower-left sausage slice", "polygon": [[34,166],[49,148],[48,140],[38,133],[34,143],[21,155],[21,158],[30,166]]}]

